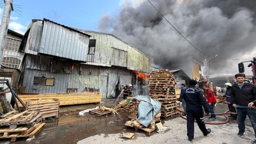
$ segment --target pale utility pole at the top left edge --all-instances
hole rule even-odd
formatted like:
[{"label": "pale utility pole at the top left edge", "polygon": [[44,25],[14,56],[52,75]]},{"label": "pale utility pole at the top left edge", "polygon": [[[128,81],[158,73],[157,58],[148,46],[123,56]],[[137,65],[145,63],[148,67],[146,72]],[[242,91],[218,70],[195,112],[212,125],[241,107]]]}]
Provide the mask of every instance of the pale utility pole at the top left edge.
[{"label": "pale utility pole at the top left edge", "polygon": [[4,0],[4,12],[3,12],[3,17],[1,21],[1,26],[0,26],[0,67],[2,65],[3,61],[3,51],[4,51],[4,45],[5,45],[5,40],[6,40],[6,35],[8,31],[8,25],[10,21],[10,15],[11,11],[13,11],[13,5],[12,5],[13,0]]}]

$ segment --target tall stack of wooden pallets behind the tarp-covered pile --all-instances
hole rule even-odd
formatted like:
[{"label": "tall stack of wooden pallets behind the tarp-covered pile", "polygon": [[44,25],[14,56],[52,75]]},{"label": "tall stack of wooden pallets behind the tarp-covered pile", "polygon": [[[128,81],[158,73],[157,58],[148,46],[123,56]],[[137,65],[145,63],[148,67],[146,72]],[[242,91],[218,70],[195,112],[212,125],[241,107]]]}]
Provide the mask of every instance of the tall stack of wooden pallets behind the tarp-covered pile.
[{"label": "tall stack of wooden pallets behind the tarp-covered pile", "polygon": [[175,77],[168,69],[154,70],[149,79],[149,95],[153,99],[159,100],[162,104],[161,116],[178,115],[177,97],[175,96]]}]

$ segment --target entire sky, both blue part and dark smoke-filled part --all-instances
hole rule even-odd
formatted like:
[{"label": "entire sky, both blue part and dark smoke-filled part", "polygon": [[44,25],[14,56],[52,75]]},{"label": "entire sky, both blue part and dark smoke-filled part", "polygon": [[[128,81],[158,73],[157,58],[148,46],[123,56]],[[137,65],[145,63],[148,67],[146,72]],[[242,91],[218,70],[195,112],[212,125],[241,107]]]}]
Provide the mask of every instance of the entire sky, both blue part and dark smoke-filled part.
[{"label": "entire sky, both blue part and dark smoke-filled part", "polygon": [[[150,2],[153,6],[147,0],[13,0],[9,28],[23,34],[31,19],[45,18],[111,33],[146,54],[154,67],[170,70],[189,69],[190,57],[204,61],[218,54],[210,61],[210,77],[236,74],[237,63],[256,56],[255,0]],[[246,74],[252,74],[246,65]]]}]

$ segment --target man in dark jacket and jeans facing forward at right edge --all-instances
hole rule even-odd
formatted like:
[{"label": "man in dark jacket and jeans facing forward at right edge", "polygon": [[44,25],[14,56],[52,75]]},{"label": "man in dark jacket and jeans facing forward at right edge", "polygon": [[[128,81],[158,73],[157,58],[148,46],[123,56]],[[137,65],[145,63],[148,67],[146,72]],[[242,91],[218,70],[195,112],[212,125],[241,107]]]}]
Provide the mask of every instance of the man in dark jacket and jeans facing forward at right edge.
[{"label": "man in dark jacket and jeans facing forward at right edge", "polygon": [[[254,134],[256,134],[256,109],[250,108],[250,103],[256,100],[256,87],[252,83],[244,83],[244,74],[236,74],[237,83],[233,84],[230,95],[231,103],[237,109],[238,135],[243,136],[246,115],[250,118]],[[256,136],[256,135],[255,135]],[[256,140],[252,141],[256,143]]]}]

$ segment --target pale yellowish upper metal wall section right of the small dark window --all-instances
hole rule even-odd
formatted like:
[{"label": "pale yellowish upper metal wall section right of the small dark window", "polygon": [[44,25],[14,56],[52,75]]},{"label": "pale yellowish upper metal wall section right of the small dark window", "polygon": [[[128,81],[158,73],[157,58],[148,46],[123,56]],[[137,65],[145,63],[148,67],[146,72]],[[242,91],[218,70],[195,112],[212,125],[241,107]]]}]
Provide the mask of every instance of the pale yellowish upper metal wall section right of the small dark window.
[{"label": "pale yellowish upper metal wall section right of the small dark window", "polygon": [[139,70],[149,72],[149,60],[142,52],[131,45],[126,44],[114,35],[106,33],[97,33],[84,31],[91,35],[90,39],[96,39],[96,49],[94,62],[88,62],[88,65],[111,65],[127,67],[130,70]]}]

